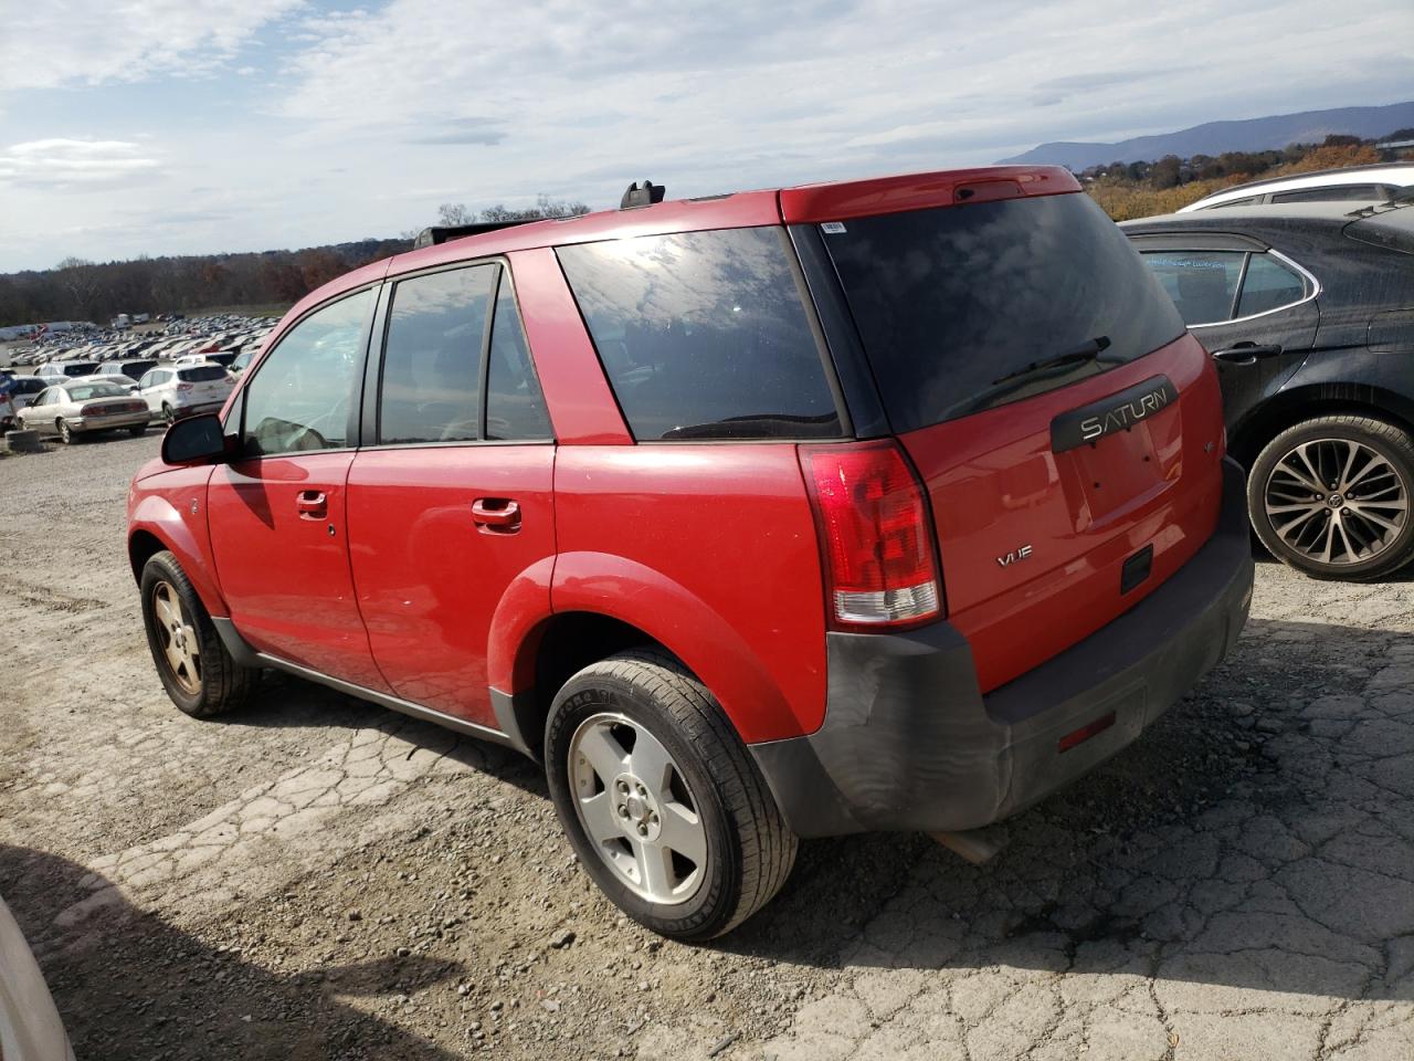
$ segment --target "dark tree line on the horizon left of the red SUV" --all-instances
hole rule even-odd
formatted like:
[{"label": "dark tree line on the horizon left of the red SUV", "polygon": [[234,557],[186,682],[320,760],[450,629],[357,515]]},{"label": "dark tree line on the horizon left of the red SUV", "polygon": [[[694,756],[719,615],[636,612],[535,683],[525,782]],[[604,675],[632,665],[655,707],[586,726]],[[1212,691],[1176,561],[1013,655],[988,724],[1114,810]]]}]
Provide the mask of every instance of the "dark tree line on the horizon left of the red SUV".
[{"label": "dark tree line on the horizon left of the red SUV", "polygon": [[[534,207],[491,207],[479,214],[460,202],[438,208],[441,225],[523,221],[587,214],[583,202],[540,197]],[[262,250],[240,255],[136,257],[88,262],[68,257],[54,269],[0,274],[0,327],[41,321],[106,323],[119,313],[192,313],[218,306],[291,306],[351,269],[409,249],[417,232],[397,239]]]}]

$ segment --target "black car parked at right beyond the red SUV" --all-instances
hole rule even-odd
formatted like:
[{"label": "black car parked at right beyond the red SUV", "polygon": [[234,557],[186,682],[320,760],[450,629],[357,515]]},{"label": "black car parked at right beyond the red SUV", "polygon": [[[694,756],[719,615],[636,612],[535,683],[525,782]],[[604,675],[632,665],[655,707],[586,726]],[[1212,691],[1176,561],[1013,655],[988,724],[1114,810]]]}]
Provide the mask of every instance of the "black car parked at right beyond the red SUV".
[{"label": "black car parked at right beyond the red SUV", "polygon": [[1251,525],[1318,579],[1414,559],[1414,204],[1121,226],[1217,361]]}]

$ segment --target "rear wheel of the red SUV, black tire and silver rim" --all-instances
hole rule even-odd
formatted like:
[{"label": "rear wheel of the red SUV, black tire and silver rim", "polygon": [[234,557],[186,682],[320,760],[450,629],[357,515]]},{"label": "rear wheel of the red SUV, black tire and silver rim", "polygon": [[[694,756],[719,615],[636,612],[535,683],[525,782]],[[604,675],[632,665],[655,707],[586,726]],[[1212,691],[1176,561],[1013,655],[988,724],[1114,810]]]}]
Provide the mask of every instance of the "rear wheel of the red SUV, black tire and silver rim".
[{"label": "rear wheel of the red SUV, black tire and silver rim", "polygon": [[[643,734],[666,753],[666,777],[653,777],[660,758],[639,744]],[[700,941],[730,932],[790,876],[795,833],[715,697],[669,655],[632,649],[574,675],[550,707],[544,754],[550,796],[581,864],[619,910],[659,935]],[[619,770],[622,789],[605,777]],[[633,801],[645,791],[636,779],[652,788]],[[684,823],[693,818],[700,836],[673,843],[670,836],[690,836]],[[587,822],[597,822],[601,842]],[[631,839],[635,829],[653,832]],[[658,888],[653,871],[643,871],[653,856],[667,867]],[[667,894],[670,886],[677,894]]]}]

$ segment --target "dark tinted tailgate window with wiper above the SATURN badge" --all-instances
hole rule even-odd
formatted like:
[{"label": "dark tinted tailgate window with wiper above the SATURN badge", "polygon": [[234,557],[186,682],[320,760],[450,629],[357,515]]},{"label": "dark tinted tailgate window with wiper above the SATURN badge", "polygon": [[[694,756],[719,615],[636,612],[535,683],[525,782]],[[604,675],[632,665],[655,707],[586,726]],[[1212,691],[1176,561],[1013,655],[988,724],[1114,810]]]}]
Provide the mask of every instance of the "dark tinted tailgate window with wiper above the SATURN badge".
[{"label": "dark tinted tailgate window with wiper above the SATURN badge", "polygon": [[899,431],[1068,386],[1184,332],[1158,280],[1087,195],[822,232]]}]

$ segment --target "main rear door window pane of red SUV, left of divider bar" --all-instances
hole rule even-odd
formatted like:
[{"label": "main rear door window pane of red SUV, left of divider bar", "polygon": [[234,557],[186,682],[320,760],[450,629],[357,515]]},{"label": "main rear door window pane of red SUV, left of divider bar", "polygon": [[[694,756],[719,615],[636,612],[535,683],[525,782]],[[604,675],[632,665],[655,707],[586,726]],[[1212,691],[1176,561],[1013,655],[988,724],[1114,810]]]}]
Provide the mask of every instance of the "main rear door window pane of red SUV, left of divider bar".
[{"label": "main rear door window pane of red SUV, left of divider bar", "polygon": [[378,437],[475,441],[481,348],[498,266],[414,276],[393,289]]}]

